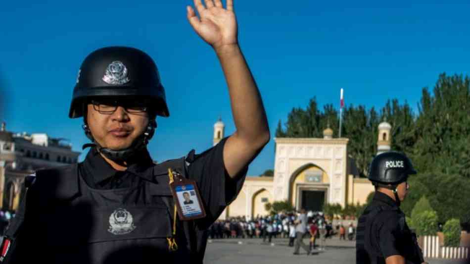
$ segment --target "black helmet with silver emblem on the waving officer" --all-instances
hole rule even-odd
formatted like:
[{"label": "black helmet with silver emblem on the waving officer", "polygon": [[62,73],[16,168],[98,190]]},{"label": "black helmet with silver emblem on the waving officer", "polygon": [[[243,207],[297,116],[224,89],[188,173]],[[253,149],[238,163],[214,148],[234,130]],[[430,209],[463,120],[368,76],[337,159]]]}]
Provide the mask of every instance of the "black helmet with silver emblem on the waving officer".
[{"label": "black helmet with silver emblem on the waving officer", "polygon": [[148,54],[128,47],[96,50],[80,67],[69,117],[83,116],[90,98],[130,96],[150,100],[156,115],[170,115],[157,66]]}]

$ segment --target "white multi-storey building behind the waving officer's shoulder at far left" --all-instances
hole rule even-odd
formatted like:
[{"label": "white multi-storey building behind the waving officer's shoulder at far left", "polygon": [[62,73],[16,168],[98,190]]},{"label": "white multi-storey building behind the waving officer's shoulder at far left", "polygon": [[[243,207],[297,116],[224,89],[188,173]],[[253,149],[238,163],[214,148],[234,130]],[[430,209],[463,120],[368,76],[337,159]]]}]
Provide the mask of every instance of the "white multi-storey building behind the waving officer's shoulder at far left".
[{"label": "white multi-storey building behind the waving officer's shoulder at far left", "polygon": [[0,128],[0,208],[16,210],[19,194],[27,175],[46,167],[76,163],[80,152],[63,139],[47,134],[15,134]]}]

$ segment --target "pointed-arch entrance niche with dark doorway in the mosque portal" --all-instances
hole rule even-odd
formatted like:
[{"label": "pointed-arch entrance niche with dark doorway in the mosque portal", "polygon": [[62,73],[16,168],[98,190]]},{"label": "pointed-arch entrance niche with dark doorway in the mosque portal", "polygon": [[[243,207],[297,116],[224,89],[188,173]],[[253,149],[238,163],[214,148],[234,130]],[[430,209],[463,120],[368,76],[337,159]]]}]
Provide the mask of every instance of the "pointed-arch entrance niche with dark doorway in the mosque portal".
[{"label": "pointed-arch entrance niche with dark doorway in the mosque portal", "polygon": [[289,201],[297,210],[323,211],[328,202],[329,177],[320,166],[308,163],[296,169],[289,180]]}]

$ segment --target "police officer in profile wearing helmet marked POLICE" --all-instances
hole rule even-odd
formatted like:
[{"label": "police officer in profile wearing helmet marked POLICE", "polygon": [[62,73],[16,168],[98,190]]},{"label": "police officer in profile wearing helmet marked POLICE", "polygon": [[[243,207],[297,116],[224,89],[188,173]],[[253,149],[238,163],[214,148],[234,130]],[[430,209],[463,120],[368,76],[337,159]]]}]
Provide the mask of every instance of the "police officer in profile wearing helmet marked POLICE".
[{"label": "police officer in profile wearing helmet marked POLICE", "polygon": [[408,193],[407,180],[411,174],[416,171],[410,159],[401,153],[385,152],[372,161],[369,180],[376,193],[358,221],[356,263],[424,263],[416,235],[399,208]]}]

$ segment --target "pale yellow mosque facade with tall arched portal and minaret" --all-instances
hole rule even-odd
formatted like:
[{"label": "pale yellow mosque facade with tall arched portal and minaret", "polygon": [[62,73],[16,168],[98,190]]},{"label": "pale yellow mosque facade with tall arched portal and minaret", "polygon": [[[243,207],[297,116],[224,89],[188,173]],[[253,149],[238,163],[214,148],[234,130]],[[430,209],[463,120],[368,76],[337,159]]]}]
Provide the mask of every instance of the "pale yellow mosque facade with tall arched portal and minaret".
[{"label": "pale yellow mosque facade with tall arched portal and minaret", "polygon": [[[390,150],[391,125],[382,122],[378,130],[379,154]],[[359,178],[355,161],[348,155],[349,139],[333,138],[329,127],[323,134],[323,138],[275,138],[274,176],[246,177],[240,194],[220,219],[266,215],[264,205],[276,201],[311,211],[322,211],[327,203],[342,207],[366,203],[374,186],[367,178]]]}]

